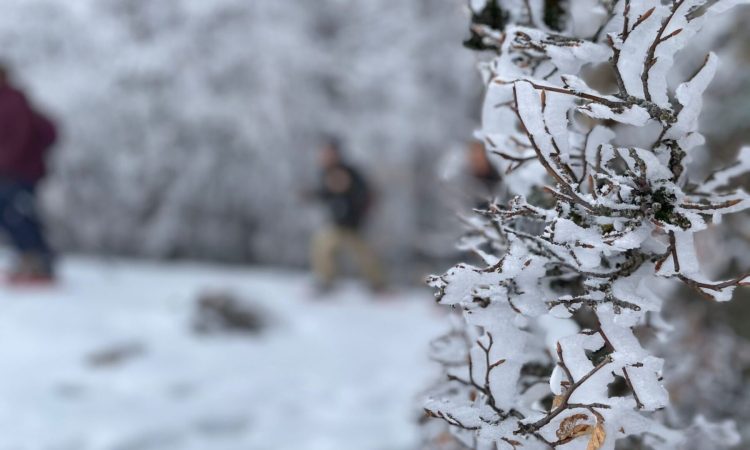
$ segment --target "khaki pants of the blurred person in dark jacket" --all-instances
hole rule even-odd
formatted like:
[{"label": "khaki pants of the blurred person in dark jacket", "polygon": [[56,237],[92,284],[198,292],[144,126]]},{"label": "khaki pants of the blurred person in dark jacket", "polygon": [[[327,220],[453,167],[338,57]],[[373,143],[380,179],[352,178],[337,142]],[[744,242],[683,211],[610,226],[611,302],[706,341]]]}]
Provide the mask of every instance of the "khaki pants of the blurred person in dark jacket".
[{"label": "khaki pants of the blurred person in dark jacket", "polygon": [[383,273],[375,252],[356,230],[341,227],[326,228],[313,238],[312,267],[322,283],[330,285],[338,275],[337,257],[341,250],[354,257],[360,273],[373,288],[383,287]]}]

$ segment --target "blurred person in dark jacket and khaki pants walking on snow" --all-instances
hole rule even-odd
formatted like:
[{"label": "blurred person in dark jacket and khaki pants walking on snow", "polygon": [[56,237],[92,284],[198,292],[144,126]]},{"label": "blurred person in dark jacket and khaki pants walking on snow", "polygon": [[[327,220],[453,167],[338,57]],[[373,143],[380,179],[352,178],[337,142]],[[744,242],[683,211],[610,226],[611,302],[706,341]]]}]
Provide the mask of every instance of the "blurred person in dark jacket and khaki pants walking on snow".
[{"label": "blurred person in dark jacket and khaki pants walking on snow", "polygon": [[372,203],[362,174],[344,160],[338,141],[331,139],[319,154],[320,186],[315,197],[328,210],[329,224],[316,234],[311,248],[313,271],[322,290],[329,289],[338,272],[337,256],[349,251],[374,290],[384,286],[380,263],[362,236]]}]

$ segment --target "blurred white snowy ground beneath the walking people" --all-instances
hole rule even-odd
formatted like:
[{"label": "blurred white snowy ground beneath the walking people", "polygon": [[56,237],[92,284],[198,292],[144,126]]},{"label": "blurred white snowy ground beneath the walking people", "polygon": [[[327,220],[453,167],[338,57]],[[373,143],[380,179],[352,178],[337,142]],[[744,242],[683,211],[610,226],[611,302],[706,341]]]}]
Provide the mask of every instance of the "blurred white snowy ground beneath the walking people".
[{"label": "blurred white snowy ground beneath the walking people", "polygon": [[[273,316],[258,337],[199,337],[200,292]],[[55,288],[0,288],[0,450],[413,449],[427,291],[315,299],[303,274],[66,261]],[[122,346],[132,357],[96,367]]]}]

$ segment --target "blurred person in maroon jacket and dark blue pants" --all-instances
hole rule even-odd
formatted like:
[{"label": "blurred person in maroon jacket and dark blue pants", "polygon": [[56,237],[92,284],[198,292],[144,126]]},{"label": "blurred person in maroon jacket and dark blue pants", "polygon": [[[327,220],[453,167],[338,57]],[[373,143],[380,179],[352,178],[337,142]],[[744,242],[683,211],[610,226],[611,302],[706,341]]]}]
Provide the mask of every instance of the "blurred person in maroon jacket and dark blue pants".
[{"label": "blurred person in maroon jacket and dark blue pants", "polygon": [[0,229],[18,252],[12,282],[51,281],[54,254],[36,208],[36,187],[57,139],[54,124],[34,110],[0,65]]}]

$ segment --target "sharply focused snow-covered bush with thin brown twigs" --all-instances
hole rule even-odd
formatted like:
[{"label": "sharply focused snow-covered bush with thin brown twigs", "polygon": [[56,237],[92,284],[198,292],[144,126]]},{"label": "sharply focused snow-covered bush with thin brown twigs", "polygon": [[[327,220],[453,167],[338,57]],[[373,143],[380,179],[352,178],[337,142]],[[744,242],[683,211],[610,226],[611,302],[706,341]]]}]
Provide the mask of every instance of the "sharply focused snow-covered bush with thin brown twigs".
[{"label": "sharply focused snow-covered bush with thin brown twigs", "polygon": [[[678,52],[741,3],[471,2],[472,44],[495,52],[482,65],[479,137],[517,195],[473,219],[463,245],[484,266],[459,264],[430,279],[439,303],[464,322],[434,345],[446,381],[426,410],[464,445],[737,443],[730,424],[699,417],[679,429],[660,412],[669,406],[664,361],[638,336],[669,338],[653,289],[660,279],[711,301],[750,284],[747,274],[709,280],[694,246],[696,233],[750,206],[728,187],[750,169],[750,148],[705,180],[686,171],[704,141],[698,119],[717,57],[669,82]],[[486,14],[492,8],[502,13]]]}]

